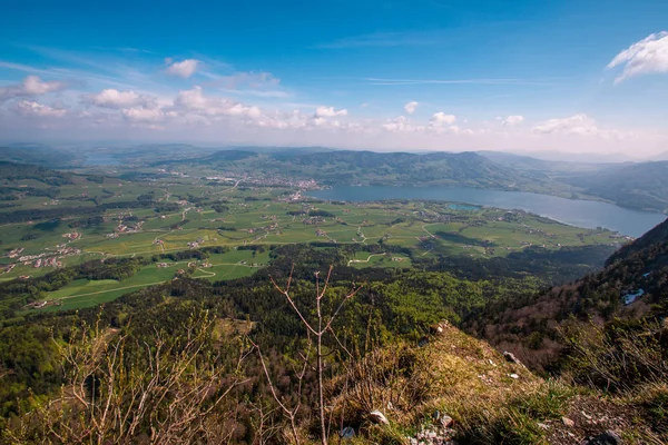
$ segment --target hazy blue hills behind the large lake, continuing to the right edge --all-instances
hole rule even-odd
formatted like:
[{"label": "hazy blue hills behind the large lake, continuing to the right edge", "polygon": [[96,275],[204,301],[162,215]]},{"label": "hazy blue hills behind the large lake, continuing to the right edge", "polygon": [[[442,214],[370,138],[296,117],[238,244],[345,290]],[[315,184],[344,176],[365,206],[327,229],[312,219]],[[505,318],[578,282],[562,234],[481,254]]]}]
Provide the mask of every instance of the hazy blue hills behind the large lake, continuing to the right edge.
[{"label": "hazy blue hills behind the large lake, continuing to the right edge", "polygon": [[497,151],[373,152],[286,149],[219,150],[186,164],[223,170],[315,178],[336,185],[468,186],[533,191],[568,198],[595,197],[623,207],[668,210],[668,162],[587,164],[549,161]]}]

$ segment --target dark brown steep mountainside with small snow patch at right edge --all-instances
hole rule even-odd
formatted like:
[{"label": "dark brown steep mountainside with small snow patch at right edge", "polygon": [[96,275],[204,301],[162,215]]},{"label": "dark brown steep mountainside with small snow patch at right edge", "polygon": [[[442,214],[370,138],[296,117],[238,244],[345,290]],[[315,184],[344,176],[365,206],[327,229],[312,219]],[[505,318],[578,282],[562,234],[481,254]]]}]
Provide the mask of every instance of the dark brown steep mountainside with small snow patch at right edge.
[{"label": "dark brown steep mountainside with small snow patch at right edge", "polygon": [[621,247],[606,267],[524,300],[497,301],[471,317],[469,332],[550,370],[563,353],[566,323],[656,319],[668,314],[668,220]]}]

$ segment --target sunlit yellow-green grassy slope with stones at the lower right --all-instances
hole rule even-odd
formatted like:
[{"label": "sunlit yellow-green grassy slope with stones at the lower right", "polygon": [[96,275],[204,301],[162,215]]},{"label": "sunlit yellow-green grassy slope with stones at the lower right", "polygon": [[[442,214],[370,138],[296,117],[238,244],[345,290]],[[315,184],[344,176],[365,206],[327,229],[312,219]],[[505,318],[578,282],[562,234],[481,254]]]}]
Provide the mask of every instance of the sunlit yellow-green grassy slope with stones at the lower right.
[{"label": "sunlit yellow-green grassy slope with stones at the lower right", "polygon": [[[642,417],[645,408],[628,398],[546,380],[509,363],[485,342],[446,323],[440,326],[442,332],[426,346],[401,344],[376,350],[356,365],[347,382],[346,377],[333,382],[343,388],[335,389],[335,414],[361,432],[356,443],[403,443],[423,429],[474,444],[580,444],[605,431],[616,432],[628,444],[658,443],[660,436],[642,421],[648,418]],[[365,421],[364,413],[379,408],[389,427]],[[436,411],[453,418],[451,429],[439,427],[433,419]],[[562,417],[573,426],[564,425]]]}]

